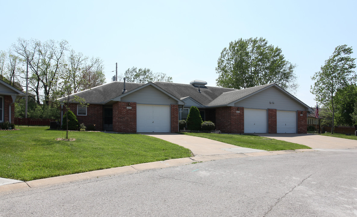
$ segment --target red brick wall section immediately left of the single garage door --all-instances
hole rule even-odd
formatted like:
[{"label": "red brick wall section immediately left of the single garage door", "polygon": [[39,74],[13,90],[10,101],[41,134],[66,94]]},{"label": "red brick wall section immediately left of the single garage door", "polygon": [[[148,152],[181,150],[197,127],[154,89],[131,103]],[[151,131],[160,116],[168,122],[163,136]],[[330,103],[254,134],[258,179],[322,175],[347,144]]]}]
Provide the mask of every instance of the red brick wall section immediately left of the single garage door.
[{"label": "red brick wall section immediately left of the single garage door", "polygon": [[127,106],[129,102],[113,104],[113,131],[136,133],[136,102],[130,102],[131,109],[127,109]]}]

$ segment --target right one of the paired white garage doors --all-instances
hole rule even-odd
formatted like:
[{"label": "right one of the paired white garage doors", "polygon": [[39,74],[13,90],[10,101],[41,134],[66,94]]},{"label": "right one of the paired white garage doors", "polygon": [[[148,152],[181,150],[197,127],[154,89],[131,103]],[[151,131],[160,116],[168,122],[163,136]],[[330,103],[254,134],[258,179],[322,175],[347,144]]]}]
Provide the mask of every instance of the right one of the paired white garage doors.
[{"label": "right one of the paired white garage doors", "polygon": [[276,132],[296,133],[295,111],[276,111]]}]

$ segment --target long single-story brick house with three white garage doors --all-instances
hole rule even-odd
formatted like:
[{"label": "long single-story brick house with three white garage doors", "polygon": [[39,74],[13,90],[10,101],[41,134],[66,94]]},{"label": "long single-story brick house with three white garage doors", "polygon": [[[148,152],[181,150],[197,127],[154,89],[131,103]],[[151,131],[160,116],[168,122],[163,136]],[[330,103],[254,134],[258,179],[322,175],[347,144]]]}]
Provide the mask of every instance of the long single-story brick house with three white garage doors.
[{"label": "long single-story brick house with three white garage doors", "polygon": [[226,133],[306,133],[311,107],[276,84],[243,90],[206,84],[113,81],[77,92],[89,106],[71,104],[71,110],[80,123],[116,132],[177,132],[178,120],[196,106]]}]

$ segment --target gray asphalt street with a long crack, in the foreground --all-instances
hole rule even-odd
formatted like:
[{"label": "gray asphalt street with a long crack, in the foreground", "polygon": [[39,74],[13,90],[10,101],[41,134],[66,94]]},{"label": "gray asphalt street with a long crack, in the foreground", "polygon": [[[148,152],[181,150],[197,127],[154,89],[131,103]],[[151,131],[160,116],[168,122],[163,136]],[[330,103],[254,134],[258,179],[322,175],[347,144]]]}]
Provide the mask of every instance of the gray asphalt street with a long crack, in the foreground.
[{"label": "gray asphalt street with a long crack, in the foreground", "polygon": [[357,152],[207,161],[0,194],[0,216],[357,216]]}]

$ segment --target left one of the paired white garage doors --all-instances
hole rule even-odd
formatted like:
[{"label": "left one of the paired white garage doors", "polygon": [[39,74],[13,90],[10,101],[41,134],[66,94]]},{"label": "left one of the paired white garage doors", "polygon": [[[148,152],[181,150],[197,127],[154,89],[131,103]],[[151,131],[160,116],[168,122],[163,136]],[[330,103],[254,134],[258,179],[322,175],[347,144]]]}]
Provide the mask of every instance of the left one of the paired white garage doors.
[{"label": "left one of the paired white garage doors", "polygon": [[244,109],[244,133],[266,133],[267,110]]}]

